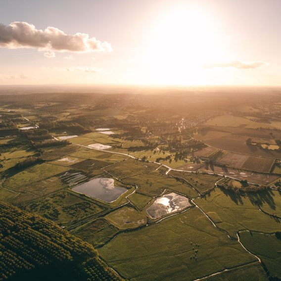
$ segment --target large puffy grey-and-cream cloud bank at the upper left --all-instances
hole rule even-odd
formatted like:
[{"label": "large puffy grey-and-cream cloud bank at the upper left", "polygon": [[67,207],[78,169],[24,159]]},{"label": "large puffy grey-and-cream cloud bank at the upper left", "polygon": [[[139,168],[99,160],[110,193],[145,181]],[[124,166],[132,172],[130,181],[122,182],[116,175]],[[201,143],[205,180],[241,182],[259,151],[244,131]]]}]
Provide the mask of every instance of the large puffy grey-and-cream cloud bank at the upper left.
[{"label": "large puffy grey-and-cream cloud bank at the upper left", "polygon": [[[36,29],[27,22],[12,22],[6,26],[0,24],[0,47],[4,48],[37,48],[39,51],[59,52],[92,52],[111,51],[108,42],[101,42],[89,34],[65,34],[55,27],[45,30]],[[48,56],[48,54],[45,56]]]}]

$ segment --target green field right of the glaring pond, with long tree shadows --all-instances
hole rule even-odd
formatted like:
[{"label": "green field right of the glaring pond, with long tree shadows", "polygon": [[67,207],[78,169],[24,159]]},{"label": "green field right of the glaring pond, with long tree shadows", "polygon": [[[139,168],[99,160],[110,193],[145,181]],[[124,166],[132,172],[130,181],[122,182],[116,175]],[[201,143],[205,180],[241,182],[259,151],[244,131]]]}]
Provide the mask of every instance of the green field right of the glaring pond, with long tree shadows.
[{"label": "green field right of the glaring pond, with long tree shadows", "polygon": [[251,230],[256,232],[274,233],[281,229],[280,220],[275,220],[261,212],[257,199],[272,201],[269,192],[255,193],[255,197],[241,196],[233,191],[215,188],[203,198],[194,200],[219,227],[236,237],[238,231]]}]

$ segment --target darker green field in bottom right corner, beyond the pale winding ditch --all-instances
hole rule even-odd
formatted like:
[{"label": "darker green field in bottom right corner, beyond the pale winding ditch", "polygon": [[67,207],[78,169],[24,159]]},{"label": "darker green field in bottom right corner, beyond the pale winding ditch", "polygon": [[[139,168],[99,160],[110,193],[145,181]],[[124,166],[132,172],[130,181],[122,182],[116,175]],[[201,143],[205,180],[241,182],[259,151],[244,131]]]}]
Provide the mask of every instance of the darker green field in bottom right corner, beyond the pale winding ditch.
[{"label": "darker green field in bottom right corner, beyond the pale winding ditch", "polygon": [[243,231],[240,232],[240,241],[262,260],[270,276],[281,279],[281,240],[275,234]]}]

